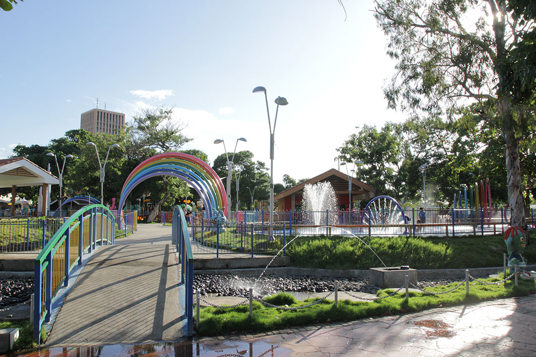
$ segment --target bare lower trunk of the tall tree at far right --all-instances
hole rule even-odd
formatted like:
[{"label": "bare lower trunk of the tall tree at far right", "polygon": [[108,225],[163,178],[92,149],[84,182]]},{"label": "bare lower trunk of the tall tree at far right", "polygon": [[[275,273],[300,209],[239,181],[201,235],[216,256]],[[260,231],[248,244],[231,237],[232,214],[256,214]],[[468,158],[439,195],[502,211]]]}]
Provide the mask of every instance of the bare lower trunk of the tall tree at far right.
[{"label": "bare lower trunk of the tall tree at far right", "polygon": [[502,117],[502,134],[506,141],[506,171],[508,182],[508,203],[511,210],[511,226],[519,226],[526,230],[523,189],[521,185],[521,169],[519,165],[519,142],[514,132],[514,120],[508,98],[502,96],[498,101],[498,109]]}]

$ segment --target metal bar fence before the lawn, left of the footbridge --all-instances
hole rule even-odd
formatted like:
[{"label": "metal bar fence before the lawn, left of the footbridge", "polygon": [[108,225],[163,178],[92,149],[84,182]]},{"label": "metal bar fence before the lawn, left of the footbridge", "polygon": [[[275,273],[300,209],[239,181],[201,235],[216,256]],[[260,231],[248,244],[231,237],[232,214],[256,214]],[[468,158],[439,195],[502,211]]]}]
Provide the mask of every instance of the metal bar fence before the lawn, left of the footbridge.
[{"label": "metal bar fence before the lawn, left of the footbridge", "polygon": [[65,218],[0,218],[0,253],[42,249]]}]

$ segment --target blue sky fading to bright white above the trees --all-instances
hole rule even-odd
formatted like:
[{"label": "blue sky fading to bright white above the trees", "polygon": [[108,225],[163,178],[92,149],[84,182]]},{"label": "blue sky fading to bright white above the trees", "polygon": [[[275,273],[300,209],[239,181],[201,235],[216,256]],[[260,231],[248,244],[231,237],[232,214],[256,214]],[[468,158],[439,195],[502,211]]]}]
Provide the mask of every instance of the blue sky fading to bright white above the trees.
[{"label": "blue sky fading to bright white above the trees", "polygon": [[183,149],[212,165],[224,153],[215,139],[232,155],[245,138],[236,151],[270,168],[265,98],[252,93],[263,86],[272,127],[274,100],[289,103],[274,130],[274,183],[337,169],[336,149],[363,124],[405,119],[386,108],[394,62],[374,2],[342,1],[18,2],[0,12],[0,158],[80,128],[98,98],[126,121],[172,107],[194,139]]}]

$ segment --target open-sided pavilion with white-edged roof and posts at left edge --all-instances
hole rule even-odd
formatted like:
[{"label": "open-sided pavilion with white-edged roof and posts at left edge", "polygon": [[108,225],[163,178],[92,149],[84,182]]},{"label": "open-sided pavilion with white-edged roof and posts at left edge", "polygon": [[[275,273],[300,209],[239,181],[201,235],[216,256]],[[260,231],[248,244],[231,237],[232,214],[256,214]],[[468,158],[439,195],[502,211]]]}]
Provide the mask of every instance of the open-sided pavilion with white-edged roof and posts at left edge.
[{"label": "open-sided pavilion with white-edged roof and posts at left edge", "polygon": [[42,186],[42,215],[47,215],[48,185],[59,185],[59,179],[24,157],[0,159],[0,188],[11,187],[11,216],[15,215],[17,187]]}]

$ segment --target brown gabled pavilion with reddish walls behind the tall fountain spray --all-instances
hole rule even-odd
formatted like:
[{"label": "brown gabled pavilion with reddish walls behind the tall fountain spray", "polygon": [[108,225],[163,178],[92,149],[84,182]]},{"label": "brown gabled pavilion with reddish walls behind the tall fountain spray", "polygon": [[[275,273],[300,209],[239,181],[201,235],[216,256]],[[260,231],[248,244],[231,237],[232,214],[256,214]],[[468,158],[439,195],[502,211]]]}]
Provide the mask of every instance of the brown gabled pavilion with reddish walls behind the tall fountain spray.
[{"label": "brown gabled pavilion with reddish walls behind the tall fountain spray", "polygon": [[328,181],[331,183],[335,194],[337,195],[337,203],[341,209],[349,208],[349,196],[352,195],[353,201],[370,200],[377,196],[376,189],[362,181],[351,177],[352,180],[352,192],[348,191],[348,175],[336,169],[328,170],[319,174],[312,179],[309,179],[294,187],[287,188],[274,196],[274,200],[277,201],[278,211],[295,210],[303,199],[303,188],[305,185],[312,185]]}]

